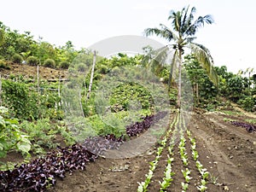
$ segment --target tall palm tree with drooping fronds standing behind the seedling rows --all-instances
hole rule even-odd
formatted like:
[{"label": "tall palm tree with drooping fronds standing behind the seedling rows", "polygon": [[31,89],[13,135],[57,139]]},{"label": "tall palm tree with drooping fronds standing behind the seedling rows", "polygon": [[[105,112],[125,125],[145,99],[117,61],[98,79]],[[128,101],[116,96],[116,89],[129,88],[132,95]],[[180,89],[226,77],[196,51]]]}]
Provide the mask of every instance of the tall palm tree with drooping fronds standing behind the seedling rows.
[{"label": "tall palm tree with drooping fronds standing behind the seedling rows", "polygon": [[[209,78],[214,84],[218,84],[218,75],[213,68],[213,59],[210,54],[209,49],[207,49],[202,44],[196,44],[193,42],[195,40],[195,32],[204,26],[205,23],[212,24],[213,19],[211,15],[199,16],[194,20],[195,7],[189,10],[183,8],[181,11],[175,12],[171,10],[168,20],[172,20],[172,29],[167,26],[160,24],[160,28],[147,28],[145,29],[146,36],[156,35],[161,38],[166,38],[172,49],[174,49],[174,55],[171,64],[170,79],[175,71],[175,63],[178,62],[178,93],[177,93],[177,108],[181,107],[181,80],[182,80],[182,63],[183,63],[183,53],[184,49],[191,49],[196,59],[200,61],[202,67],[207,70]],[[169,46],[170,46],[169,45]],[[169,82],[170,82],[169,79]],[[170,87],[170,84],[169,84]]]}]

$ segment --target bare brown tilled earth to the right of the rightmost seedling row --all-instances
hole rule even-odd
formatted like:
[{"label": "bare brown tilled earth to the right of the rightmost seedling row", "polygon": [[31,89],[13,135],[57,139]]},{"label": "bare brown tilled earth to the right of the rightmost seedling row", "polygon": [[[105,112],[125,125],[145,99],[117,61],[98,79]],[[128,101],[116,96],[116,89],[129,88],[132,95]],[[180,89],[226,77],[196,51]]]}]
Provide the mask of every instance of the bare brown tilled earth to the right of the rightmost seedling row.
[{"label": "bare brown tilled earth to the right of the rightmost seedling row", "polygon": [[[224,186],[227,186],[225,189],[233,192],[254,192],[256,191],[255,133],[248,133],[244,128],[225,122],[224,117],[226,115],[216,113],[205,115],[194,113],[191,123],[193,126],[190,125],[189,128],[198,140],[204,143],[204,151],[211,154],[212,159],[204,158],[204,164],[207,164],[207,161],[215,162],[218,170],[216,176],[223,181]],[[232,116],[232,119],[236,117]]]}]

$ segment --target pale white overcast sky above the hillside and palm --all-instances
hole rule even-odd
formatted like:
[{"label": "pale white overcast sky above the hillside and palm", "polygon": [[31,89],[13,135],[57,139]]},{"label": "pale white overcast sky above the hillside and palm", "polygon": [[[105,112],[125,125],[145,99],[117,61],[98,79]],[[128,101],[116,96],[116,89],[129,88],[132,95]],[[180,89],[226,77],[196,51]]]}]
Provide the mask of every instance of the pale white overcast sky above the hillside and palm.
[{"label": "pale white overcast sky above the hillside and palm", "polygon": [[[256,44],[254,0],[8,0],[2,1],[0,21],[19,32],[56,46],[72,41],[76,49],[115,36],[143,36],[148,27],[170,26],[170,10],[195,7],[199,15],[212,15],[214,24],[199,29],[196,43],[210,49],[215,66],[228,71],[253,67]],[[165,40],[150,37],[161,44]]]}]

